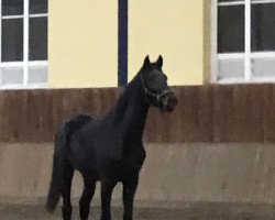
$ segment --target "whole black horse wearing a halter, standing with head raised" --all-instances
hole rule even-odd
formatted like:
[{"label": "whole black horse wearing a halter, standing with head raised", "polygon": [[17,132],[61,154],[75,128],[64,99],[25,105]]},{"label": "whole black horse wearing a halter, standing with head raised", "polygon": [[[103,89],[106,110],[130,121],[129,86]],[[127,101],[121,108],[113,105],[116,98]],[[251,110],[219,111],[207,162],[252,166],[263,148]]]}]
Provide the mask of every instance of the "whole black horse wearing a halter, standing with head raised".
[{"label": "whole black horse wearing a halter, standing with head raised", "polygon": [[62,124],[55,136],[48,211],[55,210],[62,196],[63,219],[72,219],[70,186],[77,169],[84,178],[79,200],[81,220],[88,219],[98,180],[101,182],[101,220],[111,219],[111,195],[119,182],[123,185],[123,220],[132,220],[139,173],[145,158],[142,136],[148,108],[168,112],[177,106],[162,66],[162,56],[155,63],[146,56],[141,70],[106,117],[77,114]]}]

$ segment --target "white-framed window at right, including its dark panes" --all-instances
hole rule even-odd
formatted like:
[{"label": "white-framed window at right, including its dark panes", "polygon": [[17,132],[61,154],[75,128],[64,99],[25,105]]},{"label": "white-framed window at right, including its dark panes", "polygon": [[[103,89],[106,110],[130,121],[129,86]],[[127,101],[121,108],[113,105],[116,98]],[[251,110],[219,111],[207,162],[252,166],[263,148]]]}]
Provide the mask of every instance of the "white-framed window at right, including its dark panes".
[{"label": "white-framed window at right, including its dark panes", "polygon": [[275,0],[217,3],[216,80],[275,81]]}]

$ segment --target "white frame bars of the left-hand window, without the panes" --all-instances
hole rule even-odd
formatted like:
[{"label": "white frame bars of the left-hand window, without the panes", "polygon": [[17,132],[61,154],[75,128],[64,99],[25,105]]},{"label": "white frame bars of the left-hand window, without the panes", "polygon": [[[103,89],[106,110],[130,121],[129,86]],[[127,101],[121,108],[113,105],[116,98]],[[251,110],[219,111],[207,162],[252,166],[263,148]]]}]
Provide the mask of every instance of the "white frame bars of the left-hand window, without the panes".
[{"label": "white frame bars of the left-hand window, without the panes", "polygon": [[[2,20],[4,19],[23,19],[23,61],[22,62],[2,62],[2,44],[0,42],[0,69],[9,67],[21,67],[23,69],[23,84],[8,84],[2,85],[2,74],[0,73],[0,90],[7,89],[44,89],[48,88],[48,80],[46,82],[28,84],[29,67],[48,67],[46,61],[29,61],[29,32],[31,18],[46,18],[47,13],[30,14],[30,0],[23,0],[23,14],[22,15],[3,15],[2,16],[2,0],[0,0],[0,36],[2,41]],[[47,24],[48,26],[48,24]],[[48,75],[47,75],[48,77]]]}]

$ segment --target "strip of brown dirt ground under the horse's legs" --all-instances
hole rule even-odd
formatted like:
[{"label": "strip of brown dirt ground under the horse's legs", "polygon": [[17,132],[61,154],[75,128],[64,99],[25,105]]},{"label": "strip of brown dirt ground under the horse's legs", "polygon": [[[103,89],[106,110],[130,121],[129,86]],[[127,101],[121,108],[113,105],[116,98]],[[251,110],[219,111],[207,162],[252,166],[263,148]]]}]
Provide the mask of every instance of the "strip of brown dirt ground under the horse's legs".
[{"label": "strip of brown dirt ground under the horse's legs", "polygon": [[[100,209],[92,207],[90,220],[100,219]],[[112,208],[113,220],[121,220],[122,209]],[[42,206],[0,205],[0,220],[62,220],[61,209],[50,215]],[[78,208],[74,208],[73,220],[78,220]],[[135,220],[275,220],[275,206],[252,205],[196,205],[183,209],[135,209]]]}]

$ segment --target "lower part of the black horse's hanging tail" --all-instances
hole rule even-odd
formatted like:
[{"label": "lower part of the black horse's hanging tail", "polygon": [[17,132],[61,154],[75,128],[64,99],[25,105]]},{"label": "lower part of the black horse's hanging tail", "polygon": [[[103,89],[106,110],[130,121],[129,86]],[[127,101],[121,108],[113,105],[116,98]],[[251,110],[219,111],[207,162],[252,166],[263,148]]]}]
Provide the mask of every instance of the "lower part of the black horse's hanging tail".
[{"label": "lower part of the black horse's hanging tail", "polygon": [[53,174],[52,174],[52,182],[47,195],[46,201],[46,209],[50,212],[54,212],[59,199],[61,199],[61,191],[58,187],[58,164],[57,164],[56,155],[54,155],[53,161]]}]

